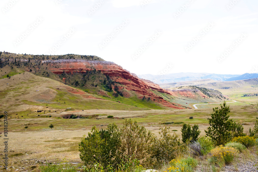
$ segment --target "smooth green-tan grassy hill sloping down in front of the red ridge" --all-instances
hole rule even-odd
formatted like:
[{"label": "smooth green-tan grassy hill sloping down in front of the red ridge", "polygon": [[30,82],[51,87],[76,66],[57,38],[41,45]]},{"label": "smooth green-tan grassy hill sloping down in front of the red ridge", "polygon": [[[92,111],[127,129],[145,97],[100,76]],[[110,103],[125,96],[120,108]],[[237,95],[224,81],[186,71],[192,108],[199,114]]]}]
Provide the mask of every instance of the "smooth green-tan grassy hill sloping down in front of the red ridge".
[{"label": "smooth green-tan grassy hill sloping down in front of the red ridge", "polygon": [[129,98],[125,103],[104,100],[97,95],[92,95],[56,80],[35,76],[28,72],[14,75],[10,79],[1,79],[0,87],[1,109],[5,109],[9,112],[19,112],[19,118],[27,118],[24,116],[25,114],[34,116],[37,110],[44,110],[45,112],[43,111],[39,114],[46,116],[50,113],[49,110],[51,110],[51,112],[58,110],[61,112],[70,107],[76,110],[165,109],[153,102],[142,101],[135,98]]}]

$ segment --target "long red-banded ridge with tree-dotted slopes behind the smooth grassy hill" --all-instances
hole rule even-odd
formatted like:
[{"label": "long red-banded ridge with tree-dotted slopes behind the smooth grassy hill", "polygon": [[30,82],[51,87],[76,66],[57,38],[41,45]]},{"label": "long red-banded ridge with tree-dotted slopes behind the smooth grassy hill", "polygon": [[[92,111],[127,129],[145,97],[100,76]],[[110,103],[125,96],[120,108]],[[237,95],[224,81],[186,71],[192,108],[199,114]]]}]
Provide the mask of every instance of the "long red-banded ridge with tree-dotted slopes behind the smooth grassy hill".
[{"label": "long red-banded ridge with tree-dotted slopes behind the smooth grassy hill", "polygon": [[[2,66],[0,73],[2,75],[1,78],[5,78],[4,80],[6,81],[8,75],[10,77],[7,79],[8,82],[14,79],[14,76],[17,77],[16,75],[23,75],[22,73],[25,71],[35,77],[52,79],[66,86],[70,86],[71,88],[68,90],[70,90],[71,93],[82,94],[86,99],[120,102],[120,104],[140,108],[192,108],[191,103],[204,102],[203,99],[208,97],[208,95],[203,95],[201,91],[196,91],[196,89],[176,92],[163,89],[154,82],[140,79],[134,73],[130,73],[114,62],[104,61],[97,56],[74,54],[61,56],[20,55],[4,52],[1,55],[0,65]],[[52,80],[49,82],[52,83]],[[26,81],[26,83],[27,82],[28,81]],[[41,83],[39,82],[37,84]],[[17,83],[17,86],[22,86],[22,83]],[[28,89],[31,88],[31,86],[26,87]],[[55,89],[53,89],[52,92],[44,92],[43,97],[44,94],[54,94],[57,88],[59,88],[58,86],[52,87]],[[52,88],[45,85],[44,89],[48,90]],[[74,90],[71,91],[71,89]],[[2,91],[2,94],[4,94],[4,91]],[[55,97],[56,95],[52,96]],[[22,97],[20,97],[19,100],[20,99],[22,99]],[[23,102],[25,102],[25,100],[23,100]],[[221,100],[214,98],[205,101],[219,102]],[[116,106],[117,104],[113,104],[109,108],[105,106],[101,108],[116,109]],[[87,109],[91,108],[93,107],[87,107]]]}]

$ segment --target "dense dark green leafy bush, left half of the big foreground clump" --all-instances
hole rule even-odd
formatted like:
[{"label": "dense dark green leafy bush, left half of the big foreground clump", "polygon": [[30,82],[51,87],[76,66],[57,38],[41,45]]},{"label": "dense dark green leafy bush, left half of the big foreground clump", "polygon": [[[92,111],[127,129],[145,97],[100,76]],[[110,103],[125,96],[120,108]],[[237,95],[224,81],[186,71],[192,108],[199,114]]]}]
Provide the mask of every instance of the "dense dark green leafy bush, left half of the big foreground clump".
[{"label": "dense dark green leafy bush, left half of the big foreground clump", "polygon": [[121,145],[119,130],[115,123],[109,124],[107,130],[99,130],[96,126],[92,127],[88,136],[82,137],[79,144],[79,156],[88,168],[94,163],[100,163],[103,166],[116,164],[119,159],[116,152]]}]

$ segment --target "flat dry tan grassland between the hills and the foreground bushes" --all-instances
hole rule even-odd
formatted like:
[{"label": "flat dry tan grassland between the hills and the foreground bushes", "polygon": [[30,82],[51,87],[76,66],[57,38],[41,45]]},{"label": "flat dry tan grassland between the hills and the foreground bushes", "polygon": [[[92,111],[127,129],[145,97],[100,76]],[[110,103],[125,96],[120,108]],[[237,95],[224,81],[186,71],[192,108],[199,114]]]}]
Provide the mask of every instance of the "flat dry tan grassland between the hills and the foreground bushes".
[{"label": "flat dry tan grassland between the hills and the foreground bushes", "polygon": [[[235,105],[232,106],[230,118],[243,124],[244,132],[253,128],[255,118],[257,117],[254,105]],[[82,163],[79,159],[78,143],[83,135],[90,132],[92,126],[106,128],[111,122],[116,122],[118,126],[123,124],[125,118],[137,120],[142,126],[158,134],[160,126],[164,122],[184,122],[190,125],[198,124],[201,135],[209,126],[207,118],[213,112],[211,108],[206,109],[186,109],[186,110],[74,110],[63,112],[31,112],[21,111],[9,114],[9,139],[10,142],[10,167],[24,167],[28,169],[33,166],[39,166],[45,162],[59,162],[63,158],[69,162]],[[28,114],[28,115],[26,115]],[[62,116],[75,114],[78,116],[92,116],[91,119],[63,119]],[[40,115],[40,116],[38,116]],[[49,117],[49,116],[52,117]],[[114,118],[107,118],[113,115]],[[14,117],[24,116],[26,118]],[[48,117],[46,117],[48,116]],[[193,116],[193,119],[189,119]],[[10,118],[12,117],[12,118]],[[2,122],[2,121],[1,121]],[[50,129],[49,125],[54,128]],[[27,129],[24,127],[28,126]],[[181,136],[182,124],[170,124],[171,133]],[[174,130],[174,131],[172,131]],[[2,146],[2,145],[1,145]],[[1,147],[2,149],[2,147]],[[26,162],[26,163],[24,163]]]}]

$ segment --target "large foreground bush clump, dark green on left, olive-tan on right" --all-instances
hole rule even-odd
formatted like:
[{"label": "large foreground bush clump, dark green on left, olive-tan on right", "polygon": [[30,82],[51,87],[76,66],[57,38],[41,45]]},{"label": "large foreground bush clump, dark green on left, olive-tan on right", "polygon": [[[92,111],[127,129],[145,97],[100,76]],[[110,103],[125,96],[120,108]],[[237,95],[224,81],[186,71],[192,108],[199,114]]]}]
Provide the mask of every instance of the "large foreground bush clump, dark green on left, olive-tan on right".
[{"label": "large foreground bush clump, dark green on left, olive-tan on right", "polygon": [[119,168],[119,165],[123,167],[135,159],[146,157],[153,138],[154,134],[131,119],[126,119],[120,129],[115,123],[109,124],[107,130],[94,126],[87,137],[83,136],[79,156],[90,169],[95,163],[104,169]]}]

